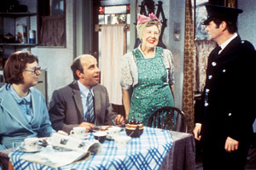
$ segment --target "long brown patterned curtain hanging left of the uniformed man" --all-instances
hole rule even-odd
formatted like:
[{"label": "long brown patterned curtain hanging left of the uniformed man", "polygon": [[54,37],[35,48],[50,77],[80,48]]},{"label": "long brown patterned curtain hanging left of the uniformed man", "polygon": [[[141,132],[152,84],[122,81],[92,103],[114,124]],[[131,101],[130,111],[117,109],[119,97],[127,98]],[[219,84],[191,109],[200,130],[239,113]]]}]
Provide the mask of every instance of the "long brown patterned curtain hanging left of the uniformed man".
[{"label": "long brown patterned curtain hanging left of the uniformed man", "polygon": [[185,44],[184,44],[184,80],[183,111],[189,123],[189,133],[194,128],[194,92],[195,92],[195,45],[194,21],[191,0],[186,0]]}]

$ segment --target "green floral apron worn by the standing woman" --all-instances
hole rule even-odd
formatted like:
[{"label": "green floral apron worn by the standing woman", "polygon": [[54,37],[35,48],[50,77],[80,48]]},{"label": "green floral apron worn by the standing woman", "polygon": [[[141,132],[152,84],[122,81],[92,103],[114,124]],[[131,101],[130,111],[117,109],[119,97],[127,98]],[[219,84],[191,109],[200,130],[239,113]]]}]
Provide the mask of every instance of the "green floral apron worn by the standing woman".
[{"label": "green floral apron worn by the standing woman", "polygon": [[135,118],[148,125],[148,119],[157,109],[174,106],[169,83],[166,82],[167,72],[162,59],[163,48],[156,47],[154,58],[145,59],[136,48],[132,54],[137,59],[138,83],[131,95],[129,120]]}]

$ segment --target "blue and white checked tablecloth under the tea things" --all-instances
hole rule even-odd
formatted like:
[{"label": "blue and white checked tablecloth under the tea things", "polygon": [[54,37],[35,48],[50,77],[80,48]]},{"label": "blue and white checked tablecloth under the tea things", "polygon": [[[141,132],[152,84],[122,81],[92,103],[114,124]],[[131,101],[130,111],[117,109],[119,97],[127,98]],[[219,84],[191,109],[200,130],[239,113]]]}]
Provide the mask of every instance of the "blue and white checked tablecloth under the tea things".
[{"label": "blue and white checked tablecloth under the tea things", "polygon": [[[121,134],[126,135],[125,131]],[[94,137],[90,134],[89,140]],[[159,169],[172,146],[170,131],[153,127],[144,127],[140,138],[132,138],[131,143],[123,150],[117,149],[113,140],[102,144],[102,152],[92,155],[86,161],[79,161],[59,169]],[[20,157],[28,154],[15,150],[9,155],[15,170],[19,169],[53,169],[24,161]],[[60,157],[61,159],[61,157]]]}]

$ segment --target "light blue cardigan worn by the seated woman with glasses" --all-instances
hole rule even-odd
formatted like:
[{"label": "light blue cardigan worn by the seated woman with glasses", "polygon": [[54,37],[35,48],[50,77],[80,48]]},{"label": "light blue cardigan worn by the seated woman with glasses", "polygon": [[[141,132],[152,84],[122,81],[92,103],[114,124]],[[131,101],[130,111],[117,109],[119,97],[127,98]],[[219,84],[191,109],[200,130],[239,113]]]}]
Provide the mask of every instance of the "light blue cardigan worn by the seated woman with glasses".
[{"label": "light blue cardigan worn by the seated woman with glasses", "polygon": [[17,147],[27,137],[49,137],[55,133],[44,95],[37,88],[30,88],[34,116],[28,123],[7,86],[0,88],[0,150]]}]

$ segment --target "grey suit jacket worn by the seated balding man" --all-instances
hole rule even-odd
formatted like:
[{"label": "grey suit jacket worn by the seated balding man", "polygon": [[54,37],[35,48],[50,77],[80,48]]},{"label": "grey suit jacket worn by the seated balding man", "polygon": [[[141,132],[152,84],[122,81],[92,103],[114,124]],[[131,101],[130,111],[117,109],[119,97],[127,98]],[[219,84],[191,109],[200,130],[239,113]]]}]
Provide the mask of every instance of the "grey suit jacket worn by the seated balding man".
[{"label": "grey suit jacket worn by the seated balding man", "polygon": [[[112,124],[117,113],[109,104],[107,88],[98,84],[93,88],[96,125]],[[84,111],[77,81],[56,89],[49,102],[49,119],[55,130],[69,133],[73,127],[84,122]]]}]

